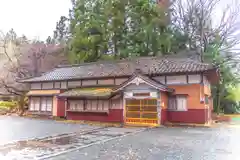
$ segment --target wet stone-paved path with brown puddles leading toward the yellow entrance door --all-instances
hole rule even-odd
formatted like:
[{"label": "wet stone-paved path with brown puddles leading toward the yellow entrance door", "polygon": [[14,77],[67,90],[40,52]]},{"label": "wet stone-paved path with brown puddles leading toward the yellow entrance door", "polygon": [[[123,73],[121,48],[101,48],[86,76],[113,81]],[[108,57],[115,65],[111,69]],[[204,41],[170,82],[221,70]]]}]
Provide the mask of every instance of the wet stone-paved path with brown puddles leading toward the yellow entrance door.
[{"label": "wet stone-paved path with brown puddles leading toward the yellow entrance door", "polygon": [[137,130],[98,128],[29,141],[19,141],[1,146],[0,159],[47,159],[53,155],[65,154],[96,142],[111,140]]}]

